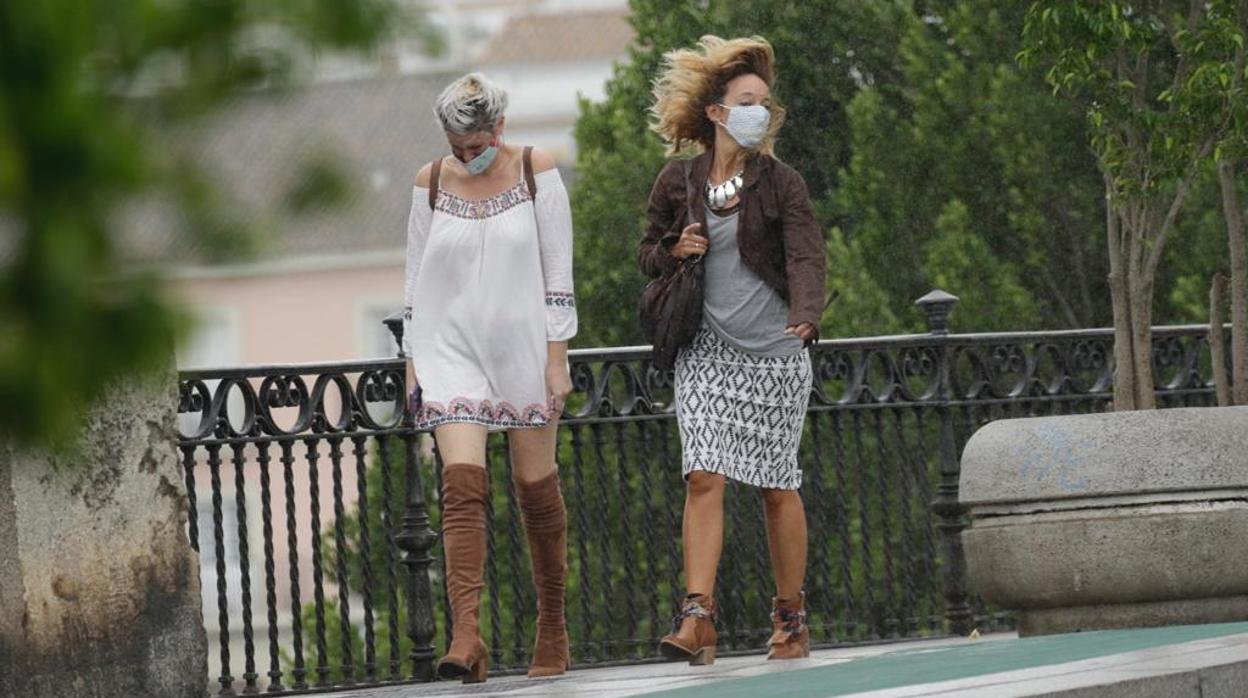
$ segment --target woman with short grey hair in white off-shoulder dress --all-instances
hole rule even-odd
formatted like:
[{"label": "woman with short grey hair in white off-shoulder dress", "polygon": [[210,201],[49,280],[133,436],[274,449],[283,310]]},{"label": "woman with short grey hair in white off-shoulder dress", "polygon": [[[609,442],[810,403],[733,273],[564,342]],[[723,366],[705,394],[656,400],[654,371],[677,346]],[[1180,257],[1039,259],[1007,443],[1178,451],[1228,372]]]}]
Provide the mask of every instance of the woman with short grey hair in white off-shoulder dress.
[{"label": "woman with short grey hair in white off-shoulder dress", "polygon": [[485,437],[508,432],[538,591],[529,676],[570,663],[568,524],[555,430],[577,333],[572,210],[549,155],[503,141],[507,92],[473,72],[434,106],[451,156],[416,177],[407,233],[404,350],[416,425],[442,456],[442,543],[453,637],[438,676],[485,681],[478,631],[487,554]]}]

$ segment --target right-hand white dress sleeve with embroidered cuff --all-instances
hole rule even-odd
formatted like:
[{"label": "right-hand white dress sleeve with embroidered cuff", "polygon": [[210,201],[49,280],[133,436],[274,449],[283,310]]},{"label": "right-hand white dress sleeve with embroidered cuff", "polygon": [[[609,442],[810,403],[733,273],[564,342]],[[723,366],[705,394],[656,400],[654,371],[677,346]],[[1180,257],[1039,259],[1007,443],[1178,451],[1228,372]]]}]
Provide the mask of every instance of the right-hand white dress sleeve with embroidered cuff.
[{"label": "right-hand white dress sleeve with embroidered cuff", "polygon": [[547,341],[577,336],[577,297],[572,285],[572,206],[559,170],[538,172],[538,245],[545,281]]}]

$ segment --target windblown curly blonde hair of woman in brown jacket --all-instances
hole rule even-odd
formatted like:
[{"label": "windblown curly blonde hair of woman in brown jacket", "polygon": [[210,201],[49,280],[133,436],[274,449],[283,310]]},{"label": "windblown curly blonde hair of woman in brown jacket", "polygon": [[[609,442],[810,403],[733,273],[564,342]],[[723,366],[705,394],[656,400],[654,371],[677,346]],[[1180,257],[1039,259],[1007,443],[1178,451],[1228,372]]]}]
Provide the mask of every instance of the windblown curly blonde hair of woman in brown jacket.
[{"label": "windblown curly blonde hair of woman in brown jacket", "polygon": [[[706,107],[724,99],[728,84],[741,75],[758,75],[773,87],[776,55],[761,36],[720,39],[703,36],[694,49],[678,49],[663,56],[663,72],[654,81],[654,129],[668,144],[668,155],[701,152],[715,145],[715,124]],[[771,124],[759,151],[771,155],[785,110],[771,97]]]}]

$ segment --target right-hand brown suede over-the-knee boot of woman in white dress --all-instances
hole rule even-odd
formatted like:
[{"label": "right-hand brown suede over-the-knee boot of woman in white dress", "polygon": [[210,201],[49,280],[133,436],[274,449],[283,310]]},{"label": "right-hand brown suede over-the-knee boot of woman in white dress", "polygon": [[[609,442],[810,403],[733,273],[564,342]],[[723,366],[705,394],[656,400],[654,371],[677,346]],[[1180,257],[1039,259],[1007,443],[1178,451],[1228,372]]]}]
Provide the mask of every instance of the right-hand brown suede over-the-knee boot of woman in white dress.
[{"label": "right-hand brown suede over-the-knee boot of woman in white dress", "polygon": [[557,676],[572,664],[563,612],[568,579],[568,513],[559,492],[559,473],[550,473],[537,482],[517,479],[515,497],[524,516],[533,586],[538,592],[538,637],[529,676]]}]

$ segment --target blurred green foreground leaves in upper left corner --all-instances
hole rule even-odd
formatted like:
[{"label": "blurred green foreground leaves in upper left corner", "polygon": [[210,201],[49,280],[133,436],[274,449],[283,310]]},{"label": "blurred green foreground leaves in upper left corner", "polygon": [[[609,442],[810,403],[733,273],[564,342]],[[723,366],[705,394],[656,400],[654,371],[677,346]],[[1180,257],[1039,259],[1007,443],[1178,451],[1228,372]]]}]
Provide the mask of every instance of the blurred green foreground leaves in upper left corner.
[{"label": "blurred green foreground leaves in upper left corner", "polygon": [[196,243],[246,242],[170,134],[316,47],[364,50],[391,0],[0,4],[0,432],[64,442],[121,375],[163,365],[185,318],[120,241],[157,196]]}]

